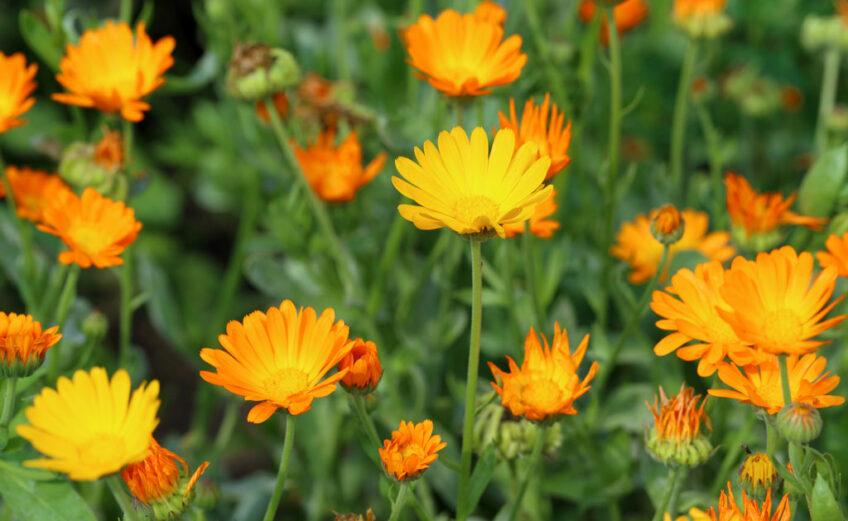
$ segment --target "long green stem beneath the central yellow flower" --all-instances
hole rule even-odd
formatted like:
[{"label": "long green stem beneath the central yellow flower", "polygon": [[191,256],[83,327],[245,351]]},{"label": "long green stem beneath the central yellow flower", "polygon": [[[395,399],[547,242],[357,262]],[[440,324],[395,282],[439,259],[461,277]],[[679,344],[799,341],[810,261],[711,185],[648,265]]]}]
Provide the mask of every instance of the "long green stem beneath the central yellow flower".
[{"label": "long green stem beneath the central yellow flower", "polygon": [[456,521],[468,517],[468,492],[471,479],[471,449],[474,432],[474,415],[477,409],[477,370],[480,365],[480,329],[483,310],[483,258],[482,242],[471,242],[471,342],[468,349],[468,378],[465,383],[465,424],[462,428],[462,457],[459,472],[459,496]]}]

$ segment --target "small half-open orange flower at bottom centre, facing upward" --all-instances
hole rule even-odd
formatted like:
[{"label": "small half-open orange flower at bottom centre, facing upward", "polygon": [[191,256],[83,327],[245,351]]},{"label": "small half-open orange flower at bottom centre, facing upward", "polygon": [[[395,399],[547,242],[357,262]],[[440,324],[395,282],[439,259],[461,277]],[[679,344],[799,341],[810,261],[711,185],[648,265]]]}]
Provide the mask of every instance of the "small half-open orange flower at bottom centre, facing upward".
[{"label": "small half-open orange flower at bottom centre, facing upward", "polygon": [[432,421],[413,424],[401,420],[400,427],[392,431],[392,439],[383,440],[383,448],[378,451],[386,472],[399,481],[407,481],[419,477],[446,445],[441,436],[433,436]]}]

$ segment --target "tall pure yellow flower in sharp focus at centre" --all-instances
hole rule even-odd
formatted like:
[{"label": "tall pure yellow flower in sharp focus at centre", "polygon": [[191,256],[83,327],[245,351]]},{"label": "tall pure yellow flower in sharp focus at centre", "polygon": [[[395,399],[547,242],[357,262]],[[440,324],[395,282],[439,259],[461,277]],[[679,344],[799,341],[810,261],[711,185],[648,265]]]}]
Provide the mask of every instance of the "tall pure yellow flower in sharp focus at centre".
[{"label": "tall pure yellow flower in sharp focus at centre", "polygon": [[515,147],[515,133],[498,131],[489,153],[489,138],[480,127],[471,140],[460,127],[439,134],[439,147],[415,147],[417,163],[395,161],[405,178],[392,177],[397,190],[420,206],[402,204],[404,219],[422,230],[449,227],[461,235],[506,237],[504,226],[529,219],[553,187],[542,186],[550,165],[536,146]]}]

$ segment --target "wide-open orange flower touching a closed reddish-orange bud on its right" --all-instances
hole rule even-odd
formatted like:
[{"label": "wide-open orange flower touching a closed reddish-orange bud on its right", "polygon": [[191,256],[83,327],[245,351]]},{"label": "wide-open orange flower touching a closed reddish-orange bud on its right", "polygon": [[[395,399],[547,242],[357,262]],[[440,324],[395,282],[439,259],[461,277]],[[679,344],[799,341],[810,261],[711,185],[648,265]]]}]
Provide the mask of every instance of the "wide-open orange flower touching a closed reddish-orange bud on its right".
[{"label": "wide-open orange flower touching a closed reddish-orange bud on its right", "polygon": [[264,422],[280,408],[302,414],[315,398],[335,391],[348,372],[342,369],[324,378],[353,348],[348,327],[335,318],[333,309],[318,316],[310,307],[297,310],[284,300],[267,313],[254,311],[242,322],[231,320],[227,333],[218,337],[224,349],[200,351],[200,358],[216,369],[201,371],[200,377],[261,402],[247,415],[251,423]]}]

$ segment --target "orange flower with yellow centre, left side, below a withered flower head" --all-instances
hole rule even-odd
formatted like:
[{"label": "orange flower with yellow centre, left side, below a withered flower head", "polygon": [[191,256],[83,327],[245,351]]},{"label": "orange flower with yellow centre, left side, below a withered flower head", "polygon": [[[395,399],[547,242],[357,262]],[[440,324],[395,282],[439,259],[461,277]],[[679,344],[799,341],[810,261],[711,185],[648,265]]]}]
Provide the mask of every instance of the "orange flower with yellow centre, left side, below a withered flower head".
[{"label": "orange flower with yellow centre, left side, below a withered flower head", "polygon": [[59,262],[83,268],[120,266],[121,253],[141,230],[132,208],[94,188],[86,188],[82,197],[59,191],[44,208],[42,220],[38,229],[58,236],[70,248],[59,254]]}]

